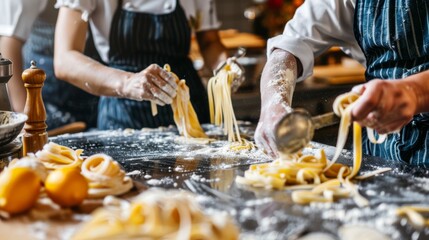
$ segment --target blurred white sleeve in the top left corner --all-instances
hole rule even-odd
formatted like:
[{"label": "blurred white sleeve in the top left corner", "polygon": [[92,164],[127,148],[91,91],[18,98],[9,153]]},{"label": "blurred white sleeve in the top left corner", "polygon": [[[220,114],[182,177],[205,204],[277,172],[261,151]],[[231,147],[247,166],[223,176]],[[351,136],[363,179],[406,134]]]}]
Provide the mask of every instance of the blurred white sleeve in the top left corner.
[{"label": "blurred white sleeve in the top left corner", "polygon": [[34,20],[46,4],[47,0],[1,0],[0,35],[27,40]]}]

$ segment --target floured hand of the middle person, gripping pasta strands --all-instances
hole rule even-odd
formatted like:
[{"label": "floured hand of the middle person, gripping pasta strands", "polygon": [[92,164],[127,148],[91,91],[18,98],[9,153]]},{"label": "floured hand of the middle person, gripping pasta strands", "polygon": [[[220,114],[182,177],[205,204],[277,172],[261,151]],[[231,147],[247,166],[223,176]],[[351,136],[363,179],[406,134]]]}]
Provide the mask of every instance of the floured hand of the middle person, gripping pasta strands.
[{"label": "floured hand of the middle person, gripping pasta strands", "polygon": [[176,91],[177,83],[173,74],[151,64],[143,71],[132,74],[122,92],[129,99],[153,101],[164,106],[172,103]]}]

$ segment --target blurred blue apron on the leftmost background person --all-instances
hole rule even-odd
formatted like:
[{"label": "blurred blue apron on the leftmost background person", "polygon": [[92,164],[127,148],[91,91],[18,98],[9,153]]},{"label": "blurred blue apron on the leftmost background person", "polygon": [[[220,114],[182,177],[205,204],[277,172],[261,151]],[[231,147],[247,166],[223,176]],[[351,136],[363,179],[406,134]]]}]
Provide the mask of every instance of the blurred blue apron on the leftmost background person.
[{"label": "blurred blue apron on the leftmost background person", "polygon": [[[54,31],[55,24],[37,19],[23,48],[24,68],[29,68],[30,61],[35,60],[37,66],[46,73],[42,98],[48,130],[76,121],[85,122],[87,128],[95,128],[98,97],[55,77]],[[98,55],[91,35],[85,47],[85,54],[93,58]]]}]

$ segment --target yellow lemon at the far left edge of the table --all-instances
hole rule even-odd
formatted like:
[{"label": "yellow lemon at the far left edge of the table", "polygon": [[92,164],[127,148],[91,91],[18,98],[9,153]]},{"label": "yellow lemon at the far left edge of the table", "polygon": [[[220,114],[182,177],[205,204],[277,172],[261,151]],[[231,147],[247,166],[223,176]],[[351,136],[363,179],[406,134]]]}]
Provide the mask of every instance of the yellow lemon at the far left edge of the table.
[{"label": "yellow lemon at the far left edge of the table", "polygon": [[39,197],[40,187],[40,177],[33,169],[5,169],[0,174],[0,209],[10,214],[29,210]]}]

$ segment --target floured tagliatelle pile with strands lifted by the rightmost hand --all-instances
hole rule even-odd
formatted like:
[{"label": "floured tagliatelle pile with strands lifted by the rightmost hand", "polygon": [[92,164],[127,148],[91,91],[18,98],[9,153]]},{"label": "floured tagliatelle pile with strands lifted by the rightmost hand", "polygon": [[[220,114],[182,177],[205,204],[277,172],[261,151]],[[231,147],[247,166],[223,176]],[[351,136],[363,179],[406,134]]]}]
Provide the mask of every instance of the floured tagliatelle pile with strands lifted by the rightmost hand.
[{"label": "floured tagliatelle pile with strands lifted by the rightmost hand", "polygon": [[[368,201],[359,194],[357,186],[351,181],[359,172],[362,162],[362,130],[358,123],[353,123],[353,167],[335,163],[347,140],[351,110],[358,98],[359,95],[355,93],[347,93],[338,96],[334,102],[334,112],[341,116],[341,123],[332,161],[326,158],[323,149],[319,150],[318,156],[297,154],[271,163],[251,165],[244,177],[238,176],[236,182],[254,187],[296,190],[292,192],[292,200],[300,204],[333,202],[337,198],[353,197],[357,205],[367,205]],[[388,170],[382,169],[377,173]],[[364,179],[374,174],[356,178]]]}]

